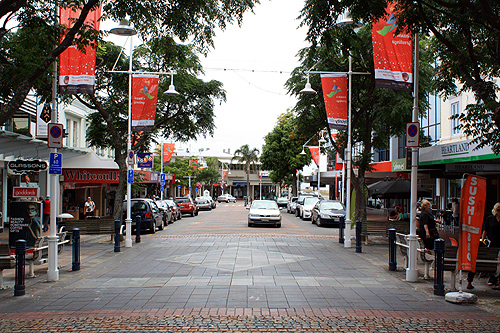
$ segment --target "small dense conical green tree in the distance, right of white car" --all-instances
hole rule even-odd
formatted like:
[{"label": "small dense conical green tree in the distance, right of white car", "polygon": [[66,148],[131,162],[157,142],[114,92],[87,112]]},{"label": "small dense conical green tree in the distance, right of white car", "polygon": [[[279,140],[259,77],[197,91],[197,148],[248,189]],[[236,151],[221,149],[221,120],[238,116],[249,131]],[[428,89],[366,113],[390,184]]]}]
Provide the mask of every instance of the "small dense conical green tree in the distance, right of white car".
[{"label": "small dense conical green tree in the distance, right of white car", "polygon": [[273,183],[292,185],[297,195],[297,170],[311,161],[300,155],[305,140],[297,133],[295,114],[288,111],[279,116],[274,129],[264,138],[260,161],[262,169],[270,170],[269,178]]}]

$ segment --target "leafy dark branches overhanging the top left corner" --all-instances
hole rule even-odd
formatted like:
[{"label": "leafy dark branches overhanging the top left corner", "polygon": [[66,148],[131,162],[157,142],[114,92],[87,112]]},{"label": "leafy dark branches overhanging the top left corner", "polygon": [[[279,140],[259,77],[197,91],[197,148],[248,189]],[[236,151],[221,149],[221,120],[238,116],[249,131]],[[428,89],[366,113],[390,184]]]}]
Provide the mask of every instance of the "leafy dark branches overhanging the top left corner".
[{"label": "leafy dark branches overhanging the top left corner", "polygon": [[[175,36],[202,51],[213,46],[215,30],[241,24],[243,14],[258,0],[0,0],[0,124],[19,110],[28,93],[50,98],[52,64],[69,46],[97,45],[99,32],[84,24],[88,13],[102,6],[101,20],[130,17],[143,40]],[[61,26],[56,6],[81,8],[72,27]],[[11,26],[13,26],[11,28]],[[60,37],[64,34],[64,38]]]}]

